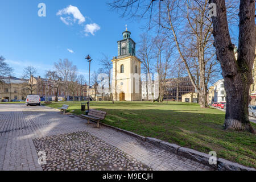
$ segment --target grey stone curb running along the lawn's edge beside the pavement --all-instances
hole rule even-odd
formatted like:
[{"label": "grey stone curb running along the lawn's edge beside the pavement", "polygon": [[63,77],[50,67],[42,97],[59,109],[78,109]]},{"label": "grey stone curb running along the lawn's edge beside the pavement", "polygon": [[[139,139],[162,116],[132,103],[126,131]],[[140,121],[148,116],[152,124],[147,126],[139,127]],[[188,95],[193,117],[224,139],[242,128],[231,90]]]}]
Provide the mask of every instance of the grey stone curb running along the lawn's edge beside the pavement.
[{"label": "grey stone curb running along the lawn's edge beside the pavement", "polygon": [[[49,106],[46,106],[46,107],[49,107]],[[49,107],[49,108],[55,109],[53,107]],[[59,110],[59,109],[55,109],[55,110]],[[68,113],[68,114],[71,114],[71,115],[74,115],[76,117],[84,119],[84,117],[82,117],[81,115],[76,115],[76,114],[72,114],[72,113]],[[241,164],[233,163],[233,162],[230,162],[229,160],[225,160],[225,159],[222,159],[222,158],[218,158],[216,165],[214,165],[214,164],[210,165],[209,164],[210,156],[208,154],[203,153],[203,152],[199,152],[199,151],[193,150],[191,148],[181,147],[181,146],[178,146],[175,143],[164,142],[163,140],[160,140],[160,139],[151,138],[151,137],[143,137],[143,136],[135,134],[131,131],[126,131],[126,130],[123,130],[123,129],[119,129],[118,127],[110,126],[110,125],[107,125],[105,123],[100,122],[100,125],[104,125],[106,127],[111,127],[112,129],[115,129],[115,130],[120,131],[122,133],[126,133],[126,134],[128,134],[132,137],[138,138],[138,139],[142,140],[143,142],[148,142],[148,143],[154,144],[155,146],[163,148],[163,149],[165,149],[167,151],[170,151],[172,153],[175,153],[179,156],[184,156],[185,158],[188,158],[188,159],[194,160],[196,162],[205,164],[209,167],[216,168],[220,171],[256,171],[255,168],[242,166]]]}]

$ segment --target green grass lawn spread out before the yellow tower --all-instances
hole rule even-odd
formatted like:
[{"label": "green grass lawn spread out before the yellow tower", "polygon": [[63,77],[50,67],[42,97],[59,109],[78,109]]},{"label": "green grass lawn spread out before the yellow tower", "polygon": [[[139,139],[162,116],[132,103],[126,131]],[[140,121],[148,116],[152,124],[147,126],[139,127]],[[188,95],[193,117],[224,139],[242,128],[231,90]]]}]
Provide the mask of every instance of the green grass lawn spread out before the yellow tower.
[{"label": "green grass lawn spread out before the yellow tower", "polygon": [[[63,102],[46,104],[61,107]],[[81,102],[65,102],[69,112],[81,114]],[[198,104],[169,102],[90,102],[90,108],[108,113],[108,125],[154,137],[197,151],[216,151],[219,158],[256,168],[256,135],[225,131],[225,113],[201,109]],[[256,129],[255,123],[251,125]]]}]

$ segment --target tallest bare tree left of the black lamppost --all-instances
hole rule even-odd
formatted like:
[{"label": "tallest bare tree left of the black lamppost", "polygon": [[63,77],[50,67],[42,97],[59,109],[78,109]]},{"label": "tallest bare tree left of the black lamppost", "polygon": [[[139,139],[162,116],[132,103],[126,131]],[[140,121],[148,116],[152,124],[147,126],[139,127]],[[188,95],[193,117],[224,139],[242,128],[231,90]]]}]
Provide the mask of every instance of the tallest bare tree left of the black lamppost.
[{"label": "tallest bare tree left of the black lamppost", "polygon": [[68,81],[73,79],[74,72],[77,71],[76,65],[73,65],[72,61],[69,61],[68,59],[59,60],[57,63],[54,63],[55,71],[57,72],[57,75],[61,78],[61,80],[64,82],[64,95],[65,95],[65,101],[67,99],[67,90],[68,90]]}]

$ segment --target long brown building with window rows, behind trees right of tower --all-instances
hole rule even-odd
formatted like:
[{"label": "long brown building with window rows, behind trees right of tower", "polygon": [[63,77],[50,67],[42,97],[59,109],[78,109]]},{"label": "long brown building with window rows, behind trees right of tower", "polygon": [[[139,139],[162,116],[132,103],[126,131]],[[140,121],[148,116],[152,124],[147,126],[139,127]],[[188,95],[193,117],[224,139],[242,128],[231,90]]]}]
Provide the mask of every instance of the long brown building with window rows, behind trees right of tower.
[{"label": "long brown building with window rows, behind trees right of tower", "polygon": [[[195,92],[189,77],[169,78],[163,88],[163,100],[182,101],[182,95]],[[197,97],[196,97],[197,98]]]}]

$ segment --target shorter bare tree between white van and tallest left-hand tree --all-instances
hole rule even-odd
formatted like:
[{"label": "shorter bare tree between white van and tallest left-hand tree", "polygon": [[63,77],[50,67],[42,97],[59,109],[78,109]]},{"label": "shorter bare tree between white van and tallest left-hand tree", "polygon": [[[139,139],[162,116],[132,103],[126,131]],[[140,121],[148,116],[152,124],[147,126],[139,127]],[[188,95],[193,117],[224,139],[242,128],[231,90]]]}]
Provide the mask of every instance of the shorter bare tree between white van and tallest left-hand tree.
[{"label": "shorter bare tree between white van and tallest left-hand tree", "polygon": [[50,86],[55,91],[55,102],[58,102],[58,93],[62,85],[61,78],[56,71],[47,71],[46,78],[48,79],[47,86]]}]

